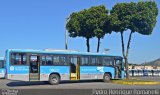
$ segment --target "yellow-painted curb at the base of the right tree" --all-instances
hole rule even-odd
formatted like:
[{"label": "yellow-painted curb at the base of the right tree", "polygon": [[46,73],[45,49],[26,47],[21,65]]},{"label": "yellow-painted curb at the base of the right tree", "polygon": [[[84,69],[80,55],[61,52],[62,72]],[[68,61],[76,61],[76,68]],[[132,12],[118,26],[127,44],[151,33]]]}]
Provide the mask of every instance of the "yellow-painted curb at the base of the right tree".
[{"label": "yellow-painted curb at the base of the right tree", "polygon": [[112,81],[112,83],[117,84],[127,84],[127,85],[157,85],[160,84],[160,82],[123,82],[123,81]]}]

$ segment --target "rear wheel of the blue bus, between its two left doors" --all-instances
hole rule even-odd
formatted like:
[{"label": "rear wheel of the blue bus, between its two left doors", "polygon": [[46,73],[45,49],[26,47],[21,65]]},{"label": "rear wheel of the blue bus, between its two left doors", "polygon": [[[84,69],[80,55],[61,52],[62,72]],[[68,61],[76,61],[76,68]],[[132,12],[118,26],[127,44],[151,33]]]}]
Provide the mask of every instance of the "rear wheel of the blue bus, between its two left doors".
[{"label": "rear wheel of the blue bus, between its two left doors", "polygon": [[49,76],[49,83],[50,83],[51,85],[58,85],[59,82],[60,82],[60,77],[59,77],[59,75],[57,75],[57,74],[51,74],[51,75]]}]

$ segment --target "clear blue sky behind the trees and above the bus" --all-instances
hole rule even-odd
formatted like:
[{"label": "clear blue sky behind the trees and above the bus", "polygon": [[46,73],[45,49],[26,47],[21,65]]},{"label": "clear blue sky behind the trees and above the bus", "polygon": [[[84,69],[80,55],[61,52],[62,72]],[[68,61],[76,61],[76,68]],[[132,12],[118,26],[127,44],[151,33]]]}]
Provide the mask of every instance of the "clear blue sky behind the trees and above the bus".
[{"label": "clear blue sky behind the trees and above the bus", "polygon": [[[139,0],[0,0],[0,56],[6,49],[65,49],[66,18],[73,12],[105,5],[111,10],[116,3]],[[156,0],[160,9],[160,0]],[[160,13],[160,11],[159,11]],[[130,63],[143,63],[160,58],[160,14],[152,35],[134,33],[129,51]],[[125,42],[129,31],[125,33]],[[90,40],[96,52],[97,39]],[[86,52],[86,39],[68,38],[68,48]],[[119,33],[101,40],[100,53],[122,56]]]}]

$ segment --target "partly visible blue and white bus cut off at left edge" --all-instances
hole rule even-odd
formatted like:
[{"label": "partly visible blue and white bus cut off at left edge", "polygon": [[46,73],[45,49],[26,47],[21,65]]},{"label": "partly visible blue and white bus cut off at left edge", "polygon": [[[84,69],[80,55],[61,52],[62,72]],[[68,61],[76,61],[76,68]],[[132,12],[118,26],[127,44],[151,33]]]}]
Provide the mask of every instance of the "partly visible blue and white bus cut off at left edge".
[{"label": "partly visible blue and white bus cut off at left edge", "polygon": [[0,78],[5,78],[5,72],[4,58],[0,57]]}]

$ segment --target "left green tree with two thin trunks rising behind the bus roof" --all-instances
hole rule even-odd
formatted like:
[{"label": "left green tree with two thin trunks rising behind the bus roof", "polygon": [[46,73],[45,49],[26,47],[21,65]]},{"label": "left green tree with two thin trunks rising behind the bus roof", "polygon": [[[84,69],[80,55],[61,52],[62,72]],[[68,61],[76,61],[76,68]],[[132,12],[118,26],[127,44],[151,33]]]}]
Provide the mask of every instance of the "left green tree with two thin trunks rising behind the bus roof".
[{"label": "left green tree with two thin trunks rising behind the bus roof", "polygon": [[105,19],[107,17],[107,13],[108,11],[103,5],[94,6],[89,9],[84,9],[80,12],[72,13],[69,16],[69,21],[66,24],[69,36],[86,38],[87,51],[90,52],[90,38],[96,36],[100,39],[105,35],[104,25],[106,23]]}]

